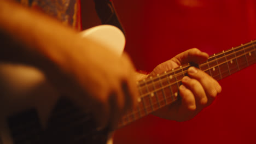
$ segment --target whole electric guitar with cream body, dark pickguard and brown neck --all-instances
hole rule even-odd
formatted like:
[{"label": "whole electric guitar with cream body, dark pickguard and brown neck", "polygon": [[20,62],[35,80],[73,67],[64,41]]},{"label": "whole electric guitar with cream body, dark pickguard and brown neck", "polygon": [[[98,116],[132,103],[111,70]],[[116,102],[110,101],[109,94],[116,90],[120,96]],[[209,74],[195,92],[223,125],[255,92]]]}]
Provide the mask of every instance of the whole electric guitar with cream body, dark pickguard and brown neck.
[{"label": "whole electric guitar with cream body, dark pickguard and brown neck", "polygon": [[[113,26],[97,26],[82,32],[117,52],[125,37]],[[256,63],[256,40],[216,53],[200,65],[185,64],[137,82],[137,109],[120,119],[118,128],[179,99],[178,87],[193,65],[220,80]],[[106,143],[109,128],[97,128],[88,111],[61,97],[36,68],[0,63],[0,144],[16,143]]]}]

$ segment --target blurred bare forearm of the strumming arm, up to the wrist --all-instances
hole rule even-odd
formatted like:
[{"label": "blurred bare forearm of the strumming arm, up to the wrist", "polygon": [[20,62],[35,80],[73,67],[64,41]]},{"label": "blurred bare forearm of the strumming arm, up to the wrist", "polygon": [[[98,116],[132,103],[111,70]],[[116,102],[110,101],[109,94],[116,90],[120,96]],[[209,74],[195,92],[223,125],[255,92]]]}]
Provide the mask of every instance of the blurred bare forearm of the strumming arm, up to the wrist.
[{"label": "blurred bare forearm of the strumming arm, up to the wrist", "polygon": [[67,45],[77,32],[48,16],[11,1],[0,1],[1,61],[15,61],[42,67],[45,59],[65,63]]}]

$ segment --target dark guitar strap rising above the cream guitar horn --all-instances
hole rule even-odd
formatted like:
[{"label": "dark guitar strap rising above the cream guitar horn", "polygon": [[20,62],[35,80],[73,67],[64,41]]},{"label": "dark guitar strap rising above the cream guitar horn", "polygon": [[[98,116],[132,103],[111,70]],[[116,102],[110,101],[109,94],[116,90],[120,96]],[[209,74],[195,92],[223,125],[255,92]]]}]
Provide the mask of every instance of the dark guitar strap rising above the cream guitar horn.
[{"label": "dark guitar strap rising above the cream guitar horn", "polygon": [[124,28],[115,12],[112,0],[94,0],[97,15],[103,25],[113,25],[121,29],[125,35]]}]

